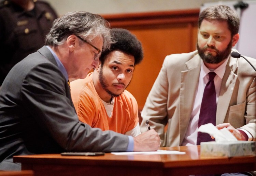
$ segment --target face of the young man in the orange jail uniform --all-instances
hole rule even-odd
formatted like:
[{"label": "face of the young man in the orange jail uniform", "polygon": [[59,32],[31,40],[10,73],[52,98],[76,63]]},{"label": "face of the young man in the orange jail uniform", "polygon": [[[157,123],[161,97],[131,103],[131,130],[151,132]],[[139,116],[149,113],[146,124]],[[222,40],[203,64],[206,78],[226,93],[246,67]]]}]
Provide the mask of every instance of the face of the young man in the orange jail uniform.
[{"label": "face of the young man in the orange jail uniform", "polygon": [[134,57],[121,51],[112,51],[99,68],[102,88],[111,96],[119,96],[129,85],[134,70]]}]

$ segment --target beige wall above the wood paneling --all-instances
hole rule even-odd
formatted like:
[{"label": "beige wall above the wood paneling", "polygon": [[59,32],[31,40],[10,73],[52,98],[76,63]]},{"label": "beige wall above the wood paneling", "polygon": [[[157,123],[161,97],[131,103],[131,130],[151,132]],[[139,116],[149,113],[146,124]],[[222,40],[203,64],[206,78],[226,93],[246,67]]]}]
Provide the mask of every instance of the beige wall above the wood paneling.
[{"label": "beige wall above the wood paneling", "polygon": [[[88,11],[96,14],[171,11],[200,8],[206,2],[217,0],[46,0],[58,15],[72,11]],[[222,0],[230,1],[230,0]]]}]

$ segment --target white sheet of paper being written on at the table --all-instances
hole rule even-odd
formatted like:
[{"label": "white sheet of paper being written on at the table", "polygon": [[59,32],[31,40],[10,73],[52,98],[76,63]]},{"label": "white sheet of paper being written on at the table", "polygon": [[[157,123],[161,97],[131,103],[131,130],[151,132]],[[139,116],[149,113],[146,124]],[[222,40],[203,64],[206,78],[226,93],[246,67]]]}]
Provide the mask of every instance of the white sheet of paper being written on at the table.
[{"label": "white sheet of paper being written on at the table", "polygon": [[157,151],[153,151],[153,152],[112,152],[112,154],[114,154],[114,155],[138,155],[138,154],[142,154],[142,155],[154,155],[154,154],[158,154],[158,155],[163,155],[163,154],[183,155],[183,154],[185,154],[185,152],[169,151],[169,150],[157,150]]}]

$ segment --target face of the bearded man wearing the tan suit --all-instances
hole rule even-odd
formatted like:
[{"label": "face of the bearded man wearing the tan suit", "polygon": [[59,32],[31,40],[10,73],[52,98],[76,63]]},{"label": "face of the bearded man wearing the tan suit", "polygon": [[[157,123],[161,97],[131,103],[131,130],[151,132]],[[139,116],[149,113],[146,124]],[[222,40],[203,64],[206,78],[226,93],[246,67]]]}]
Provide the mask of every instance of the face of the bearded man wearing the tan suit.
[{"label": "face of the bearded man wearing the tan suit", "polygon": [[232,46],[237,43],[237,35],[231,37],[227,21],[203,19],[198,31],[197,49],[205,63],[218,64],[226,59]]}]

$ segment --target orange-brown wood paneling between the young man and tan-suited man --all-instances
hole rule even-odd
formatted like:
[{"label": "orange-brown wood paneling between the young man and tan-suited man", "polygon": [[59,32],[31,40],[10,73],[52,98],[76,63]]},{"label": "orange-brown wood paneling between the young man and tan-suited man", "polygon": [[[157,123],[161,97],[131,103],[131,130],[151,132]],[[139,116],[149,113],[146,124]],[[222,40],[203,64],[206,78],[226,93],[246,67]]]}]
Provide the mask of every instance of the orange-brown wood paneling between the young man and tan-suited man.
[{"label": "orange-brown wood paneling between the young man and tan-suited man", "polygon": [[164,58],[196,49],[199,9],[102,16],[110,22],[111,28],[127,29],[142,43],[144,59],[135,67],[127,88],[142,109]]}]

